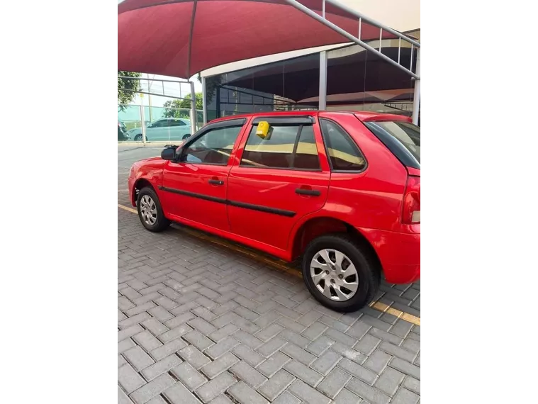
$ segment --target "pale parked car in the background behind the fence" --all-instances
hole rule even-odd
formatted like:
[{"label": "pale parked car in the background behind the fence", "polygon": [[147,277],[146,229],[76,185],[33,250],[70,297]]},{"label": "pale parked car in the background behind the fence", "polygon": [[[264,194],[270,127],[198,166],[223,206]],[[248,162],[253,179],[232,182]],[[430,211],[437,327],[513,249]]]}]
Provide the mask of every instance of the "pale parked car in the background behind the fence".
[{"label": "pale parked car in the background behind the fence", "polygon": [[[135,142],[142,141],[142,128],[128,131]],[[191,135],[191,121],[183,118],[161,118],[146,127],[147,142],[167,142],[168,140],[186,140]]]}]

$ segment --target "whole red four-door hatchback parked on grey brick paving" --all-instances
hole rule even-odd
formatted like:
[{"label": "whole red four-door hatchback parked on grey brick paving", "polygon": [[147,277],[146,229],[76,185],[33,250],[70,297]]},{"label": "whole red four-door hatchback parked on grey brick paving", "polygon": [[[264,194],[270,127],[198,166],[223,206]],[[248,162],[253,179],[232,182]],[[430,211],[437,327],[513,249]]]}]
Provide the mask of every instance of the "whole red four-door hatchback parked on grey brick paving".
[{"label": "whole red four-door hatchback parked on grey brick paving", "polygon": [[419,136],[409,118],[380,113],[220,118],[133,164],[130,199],[152,232],[174,221],[302,257],[320,303],[358,310],[382,273],[392,284],[420,278]]}]

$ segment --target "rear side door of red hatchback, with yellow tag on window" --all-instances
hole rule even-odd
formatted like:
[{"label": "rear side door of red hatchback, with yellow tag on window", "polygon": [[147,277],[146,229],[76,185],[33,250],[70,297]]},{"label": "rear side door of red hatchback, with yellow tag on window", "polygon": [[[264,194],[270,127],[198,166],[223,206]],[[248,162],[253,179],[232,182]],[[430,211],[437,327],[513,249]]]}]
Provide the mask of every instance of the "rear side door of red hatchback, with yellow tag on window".
[{"label": "rear side door of red hatchback, with yellow tag on window", "polygon": [[[256,135],[262,120],[272,128],[263,140]],[[318,124],[311,115],[259,117],[244,133],[228,177],[231,231],[285,250],[296,221],[327,199],[330,168]]]}]

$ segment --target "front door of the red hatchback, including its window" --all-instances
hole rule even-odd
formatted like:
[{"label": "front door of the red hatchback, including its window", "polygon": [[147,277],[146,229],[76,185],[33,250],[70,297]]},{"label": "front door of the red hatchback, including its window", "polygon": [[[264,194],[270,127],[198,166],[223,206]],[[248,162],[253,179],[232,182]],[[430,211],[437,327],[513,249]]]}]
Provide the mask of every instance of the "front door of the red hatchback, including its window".
[{"label": "front door of the red hatchback, including its window", "polygon": [[181,147],[178,162],[164,167],[162,205],[172,219],[230,230],[226,213],[230,157],[245,122],[240,118],[206,125]]}]

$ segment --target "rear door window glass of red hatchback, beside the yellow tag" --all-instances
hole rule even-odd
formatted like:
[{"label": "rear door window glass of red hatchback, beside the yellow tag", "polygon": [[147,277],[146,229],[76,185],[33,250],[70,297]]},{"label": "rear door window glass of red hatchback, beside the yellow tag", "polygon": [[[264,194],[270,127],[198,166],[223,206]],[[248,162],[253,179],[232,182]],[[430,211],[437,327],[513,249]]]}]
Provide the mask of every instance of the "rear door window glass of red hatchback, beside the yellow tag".
[{"label": "rear door window glass of red hatchback, beside the yellow tag", "polygon": [[242,166],[320,169],[312,125],[272,125],[269,139],[259,138],[256,130],[256,125],[253,125],[243,151]]}]

